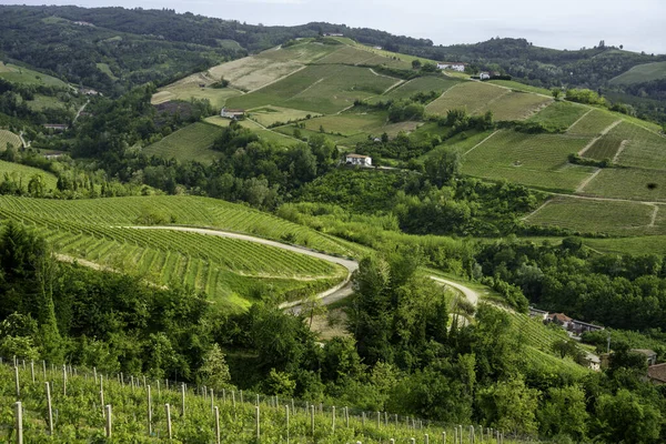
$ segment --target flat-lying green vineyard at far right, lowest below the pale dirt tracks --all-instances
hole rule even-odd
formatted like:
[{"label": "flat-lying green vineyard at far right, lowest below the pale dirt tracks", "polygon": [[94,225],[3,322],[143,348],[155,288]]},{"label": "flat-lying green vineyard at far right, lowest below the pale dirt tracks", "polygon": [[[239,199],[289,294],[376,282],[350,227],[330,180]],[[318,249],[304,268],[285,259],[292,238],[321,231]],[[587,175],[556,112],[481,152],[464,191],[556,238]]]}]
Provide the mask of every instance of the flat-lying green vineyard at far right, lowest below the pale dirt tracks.
[{"label": "flat-lying green vineyard at far right, lowest below the pale dirt tracks", "polygon": [[653,212],[654,206],[643,203],[554,198],[526,222],[623,236],[666,233],[666,226],[648,226]]}]

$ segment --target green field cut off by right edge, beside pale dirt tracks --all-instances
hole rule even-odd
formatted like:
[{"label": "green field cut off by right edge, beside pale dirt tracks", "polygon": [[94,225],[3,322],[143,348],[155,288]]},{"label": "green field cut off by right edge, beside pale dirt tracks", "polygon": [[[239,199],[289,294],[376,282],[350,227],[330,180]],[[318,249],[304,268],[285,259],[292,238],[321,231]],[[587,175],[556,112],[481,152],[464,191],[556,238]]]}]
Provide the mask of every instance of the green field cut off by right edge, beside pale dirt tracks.
[{"label": "green field cut off by right edge, beside pale dirt tracks", "polygon": [[666,138],[627,122],[615,127],[608,135],[627,141],[618,157],[619,164],[666,170]]}]

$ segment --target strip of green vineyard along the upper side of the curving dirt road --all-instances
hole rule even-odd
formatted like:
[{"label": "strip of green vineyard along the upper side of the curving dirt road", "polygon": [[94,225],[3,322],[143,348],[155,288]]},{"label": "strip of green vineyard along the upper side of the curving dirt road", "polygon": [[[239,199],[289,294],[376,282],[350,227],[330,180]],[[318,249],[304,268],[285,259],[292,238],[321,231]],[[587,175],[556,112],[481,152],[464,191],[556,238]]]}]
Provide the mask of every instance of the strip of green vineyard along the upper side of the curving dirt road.
[{"label": "strip of green vineyard along the upper side of the curving dirt road", "polygon": [[339,255],[355,255],[354,245],[284,219],[219,199],[151,195],[75,201],[0,196],[0,208],[13,214],[44,216],[109,226],[142,225],[150,215],[163,224],[220,229],[260,238],[284,240]]}]

